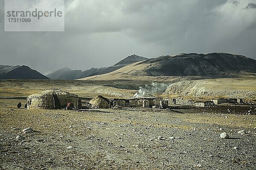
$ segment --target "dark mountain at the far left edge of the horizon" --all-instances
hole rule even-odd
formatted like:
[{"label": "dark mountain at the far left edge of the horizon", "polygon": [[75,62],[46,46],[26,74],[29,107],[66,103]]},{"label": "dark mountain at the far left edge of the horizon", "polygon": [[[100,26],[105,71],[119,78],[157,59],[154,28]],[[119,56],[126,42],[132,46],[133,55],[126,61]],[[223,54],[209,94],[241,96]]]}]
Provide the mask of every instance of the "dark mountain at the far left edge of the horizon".
[{"label": "dark mountain at the far left edge of the horizon", "polygon": [[49,79],[26,65],[0,65],[0,79]]}]

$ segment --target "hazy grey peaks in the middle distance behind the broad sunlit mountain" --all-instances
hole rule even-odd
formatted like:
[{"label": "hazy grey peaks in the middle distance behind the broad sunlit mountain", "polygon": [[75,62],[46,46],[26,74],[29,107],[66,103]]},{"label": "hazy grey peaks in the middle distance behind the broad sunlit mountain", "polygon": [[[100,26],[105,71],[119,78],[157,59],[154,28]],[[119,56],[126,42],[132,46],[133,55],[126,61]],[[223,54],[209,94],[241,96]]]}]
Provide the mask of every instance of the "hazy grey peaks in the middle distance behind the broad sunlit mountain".
[{"label": "hazy grey peaks in the middle distance behind the broad sunlit mountain", "polygon": [[110,67],[91,68],[85,71],[71,70],[70,68],[65,67],[60,70],[54,71],[51,74],[48,74],[47,77],[49,77],[50,79],[80,79],[84,77],[110,73],[131,63],[143,61],[146,59],[148,58],[140,57],[133,54],[131,56],[126,57],[125,59],[122,59],[121,61],[117,62],[115,65]]}]

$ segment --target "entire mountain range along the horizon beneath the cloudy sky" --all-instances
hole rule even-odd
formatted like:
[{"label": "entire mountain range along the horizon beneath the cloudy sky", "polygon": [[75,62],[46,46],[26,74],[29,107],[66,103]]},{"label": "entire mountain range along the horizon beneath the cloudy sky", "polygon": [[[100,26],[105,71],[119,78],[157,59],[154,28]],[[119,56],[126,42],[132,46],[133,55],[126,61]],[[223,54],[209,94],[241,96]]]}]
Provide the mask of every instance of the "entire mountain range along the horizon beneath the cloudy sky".
[{"label": "entire mountain range along the horizon beneath the cloudy sky", "polygon": [[[0,79],[116,80],[146,77],[239,77],[256,75],[256,60],[239,54],[178,54],[145,58],[131,55],[110,67],[89,70],[62,68],[47,76],[28,66],[0,65]],[[49,77],[49,78],[48,78]]]}]

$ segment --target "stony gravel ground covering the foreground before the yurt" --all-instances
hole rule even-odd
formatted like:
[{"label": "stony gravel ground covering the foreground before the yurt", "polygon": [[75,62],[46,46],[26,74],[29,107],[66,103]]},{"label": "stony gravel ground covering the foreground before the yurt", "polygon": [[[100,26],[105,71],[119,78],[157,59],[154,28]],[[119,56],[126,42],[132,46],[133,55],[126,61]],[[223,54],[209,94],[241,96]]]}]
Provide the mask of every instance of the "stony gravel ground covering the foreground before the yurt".
[{"label": "stony gravel ground covering the foreground before the yurt", "polygon": [[[31,111],[6,105],[0,108],[0,169],[254,170],[256,107],[228,108],[233,112]],[[251,114],[240,114],[243,109]],[[34,131],[23,134],[26,127]],[[237,133],[243,129],[244,135]],[[221,139],[222,132],[230,138]]]}]

